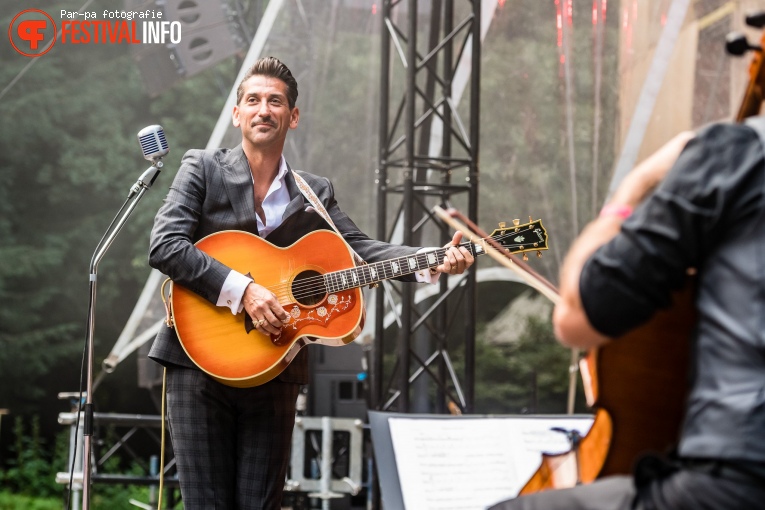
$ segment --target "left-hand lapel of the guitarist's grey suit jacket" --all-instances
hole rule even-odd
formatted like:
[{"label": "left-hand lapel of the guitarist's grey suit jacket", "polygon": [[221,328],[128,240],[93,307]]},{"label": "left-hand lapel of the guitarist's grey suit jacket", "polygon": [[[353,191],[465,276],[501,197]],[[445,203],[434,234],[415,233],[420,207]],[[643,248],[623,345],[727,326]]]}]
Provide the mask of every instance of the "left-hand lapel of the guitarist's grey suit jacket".
[{"label": "left-hand lapel of the guitarist's grey suit jacket", "polygon": [[252,174],[241,145],[237,145],[223,158],[221,171],[224,173],[226,193],[242,230],[257,234]]}]

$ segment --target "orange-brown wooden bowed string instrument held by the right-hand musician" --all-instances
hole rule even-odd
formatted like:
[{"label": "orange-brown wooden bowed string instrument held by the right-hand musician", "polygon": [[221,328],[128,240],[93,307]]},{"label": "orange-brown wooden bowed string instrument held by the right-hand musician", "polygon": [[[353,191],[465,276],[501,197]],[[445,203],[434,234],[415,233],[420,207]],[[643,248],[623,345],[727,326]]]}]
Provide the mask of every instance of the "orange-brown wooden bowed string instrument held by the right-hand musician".
[{"label": "orange-brown wooden bowed string instrument held by the right-hand musician", "polygon": [[[747,24],[765,27],[765,13],[748,16]],[[741,35],[728,36],[729,53],[755,51],[737,122],[760,113],[765,91],[765,35],[760,44],[749,45]],[[689,276],[669,309],[623,337],[591,349],[580,361],[587,403],[595,411],[592,426],[584,437],[573,436],[570,452],[543,455],[521,495],[629,474],[641,455],[666,452],[677,444],[696,317],[693,283]]]}]

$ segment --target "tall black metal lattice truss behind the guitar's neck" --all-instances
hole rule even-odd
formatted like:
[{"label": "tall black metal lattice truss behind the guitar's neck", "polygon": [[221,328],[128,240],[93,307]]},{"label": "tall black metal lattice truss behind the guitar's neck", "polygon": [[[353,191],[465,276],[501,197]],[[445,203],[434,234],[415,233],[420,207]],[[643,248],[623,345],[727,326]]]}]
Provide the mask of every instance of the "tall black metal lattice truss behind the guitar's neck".
[{"label": "tall black metal lattice truss behind the guitar's neck", "polygon": [[[478,212],[481,44],[473,42],[481,40],[481,2],[386,0],[381,37],[377,236],[442,246],[451,236],[432,206],[458,207],[473,221]],[[467,101],[458,108],[463,90]],[[459,284],[442,277],[439,296],[424,305],[415,305],[412,285],[388,282],[376,293],[371,408],[473,411],[476,271],[449,278]],[[383,327],[390,310],[397,339]],[[464,348],[461,380],[450,344]],[[384,359],[392,351],[390,368]]]}]

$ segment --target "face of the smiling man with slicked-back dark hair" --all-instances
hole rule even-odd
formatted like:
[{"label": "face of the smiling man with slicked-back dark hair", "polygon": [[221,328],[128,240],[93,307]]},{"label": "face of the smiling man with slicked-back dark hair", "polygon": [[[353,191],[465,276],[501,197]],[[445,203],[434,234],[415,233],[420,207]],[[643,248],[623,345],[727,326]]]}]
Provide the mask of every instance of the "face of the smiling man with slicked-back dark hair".
[{"label": "face of the smiling man with slicked-back dark hair", "polygon": [[255,75],[242,88],[242,99],[234,107],[234,126],[254,148],[281,150],[287,131],[297,127],[300,117],[297,106],[290,110],[287,85],[278,78]]}]

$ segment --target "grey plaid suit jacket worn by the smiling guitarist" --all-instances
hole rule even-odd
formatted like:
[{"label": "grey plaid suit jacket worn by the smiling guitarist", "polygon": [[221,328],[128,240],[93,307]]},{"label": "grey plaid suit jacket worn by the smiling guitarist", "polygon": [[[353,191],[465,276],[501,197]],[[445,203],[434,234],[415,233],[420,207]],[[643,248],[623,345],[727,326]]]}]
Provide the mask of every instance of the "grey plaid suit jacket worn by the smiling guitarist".
[{"label": "grey plaid suit jacket worn by the smiling guitarist", "polygon": [[[417,248],[391,245],[370,239],[338,207],[329,179],[299,172],[327,209],[332,221],[348,244],[364,260],[375,262],[402,257]],[[331,229],[300,193],[291,173],[287,174],[291,197],[282,224],[268,236],[276,246],[286,247],[305,234]],[[234,149],[190,150],[170,186],[167,198],[154,220],[149,248],[149,264],[175,283],[217,303],[230,269],[197,250],[194,243],[221,230],[243,230],[258,234],[252,177],[239,145]],[[413,275],[405,280],[414,281]],[[195,368],[181,347],[173,328],[162,328],[149,351],[149,357],[162,365]],[[306,384],[308,364],[305,349],[279,379]]]}]

